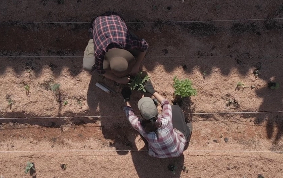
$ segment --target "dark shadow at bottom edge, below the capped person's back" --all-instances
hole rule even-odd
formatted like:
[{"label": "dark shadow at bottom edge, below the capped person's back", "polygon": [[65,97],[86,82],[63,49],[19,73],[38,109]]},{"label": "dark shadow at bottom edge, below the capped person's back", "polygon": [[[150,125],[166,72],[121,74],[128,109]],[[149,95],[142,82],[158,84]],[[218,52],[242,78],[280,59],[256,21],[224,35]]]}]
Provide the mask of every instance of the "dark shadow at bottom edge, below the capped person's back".
[{"label": "dark shadow at bottom edge, below the capped person's back", "polygon": [[[147,151],[132,152],[131,154],[136,172],[140,178],[179,178],[181,176],[182,167],[184,165],[184,155],[177,158],[160,159],[149,156]],[[174,175],[169,171],[169,165],[176,167],[176,173]]]}]

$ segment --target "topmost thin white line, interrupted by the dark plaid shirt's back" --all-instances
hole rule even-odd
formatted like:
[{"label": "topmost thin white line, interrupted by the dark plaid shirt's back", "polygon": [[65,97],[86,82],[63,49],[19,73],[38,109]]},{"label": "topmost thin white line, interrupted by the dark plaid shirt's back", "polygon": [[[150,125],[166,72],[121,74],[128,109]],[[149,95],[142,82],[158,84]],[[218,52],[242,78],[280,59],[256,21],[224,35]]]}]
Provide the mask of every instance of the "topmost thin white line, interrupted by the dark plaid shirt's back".
[{"label": "topmost thin white line, interrupted by the dark plaid shirt's back", "polygon": [[[192,23],[192,22],[231,22],[231,21],[255,21],[255,20],[283,20],[283,18],[267,19],[236,19],[236,20],[188,20],[188,21],[147,21],[147,22],[126,22],[137,23]],[[0,24],[89,24],[90,22],[0,22]]]}]

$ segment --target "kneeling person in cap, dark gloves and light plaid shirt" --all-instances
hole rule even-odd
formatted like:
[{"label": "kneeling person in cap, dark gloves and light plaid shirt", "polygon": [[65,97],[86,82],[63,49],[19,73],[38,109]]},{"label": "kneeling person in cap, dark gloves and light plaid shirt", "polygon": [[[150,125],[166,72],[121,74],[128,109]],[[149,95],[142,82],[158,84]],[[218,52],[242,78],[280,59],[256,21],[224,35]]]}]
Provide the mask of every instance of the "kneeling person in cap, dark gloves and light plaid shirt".
[{"label": "kneeling person in cap, dark gloves and light plaid shirt", "polygon": [[181,108],[171,106],[167,99],[154,90],[150,82],[146,83],[145,89],[161,103],[163,112],[158,114],[154,101],[149,97],[143,97],[138,102],[142,118],[137,117],[129,102],[131,90],[124,88],[122,90],[126,104],[124,111],[129,122],[140,132],[150,156],[174,158],[182,155],[189,145],[193,131],[192,124],[186,123]]}]

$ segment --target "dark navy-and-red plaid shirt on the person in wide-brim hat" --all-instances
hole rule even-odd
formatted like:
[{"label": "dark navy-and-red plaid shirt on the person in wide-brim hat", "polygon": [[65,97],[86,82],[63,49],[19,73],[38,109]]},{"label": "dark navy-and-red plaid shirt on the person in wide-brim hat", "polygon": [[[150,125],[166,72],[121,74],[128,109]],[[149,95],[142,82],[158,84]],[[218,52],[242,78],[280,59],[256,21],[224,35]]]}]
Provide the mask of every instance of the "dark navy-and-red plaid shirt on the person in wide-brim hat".
[{"label": "dark navy-and-red plaid shirt on the person in wide-brim hat", "polygon": [[124,20],[115,13],[106,13],[96,17],[93,22],[95,67],[104,74],[103,60],[105,53],[113,48],[124,50],[147,50],[148,44],[144,39],[133,37]]}]

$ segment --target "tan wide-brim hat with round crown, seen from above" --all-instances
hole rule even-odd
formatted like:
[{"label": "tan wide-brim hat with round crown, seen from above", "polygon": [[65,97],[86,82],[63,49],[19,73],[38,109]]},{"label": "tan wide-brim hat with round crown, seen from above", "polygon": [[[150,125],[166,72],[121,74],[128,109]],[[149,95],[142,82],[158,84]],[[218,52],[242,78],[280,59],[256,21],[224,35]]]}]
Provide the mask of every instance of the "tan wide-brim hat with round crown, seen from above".
[{"label": "tan wide-brim hat with round crown, seen from above", "polygon": [[135,62],[135,57],[129,51],[114,48],[104,55],[103,69],[122,77],[131,72]]}]

